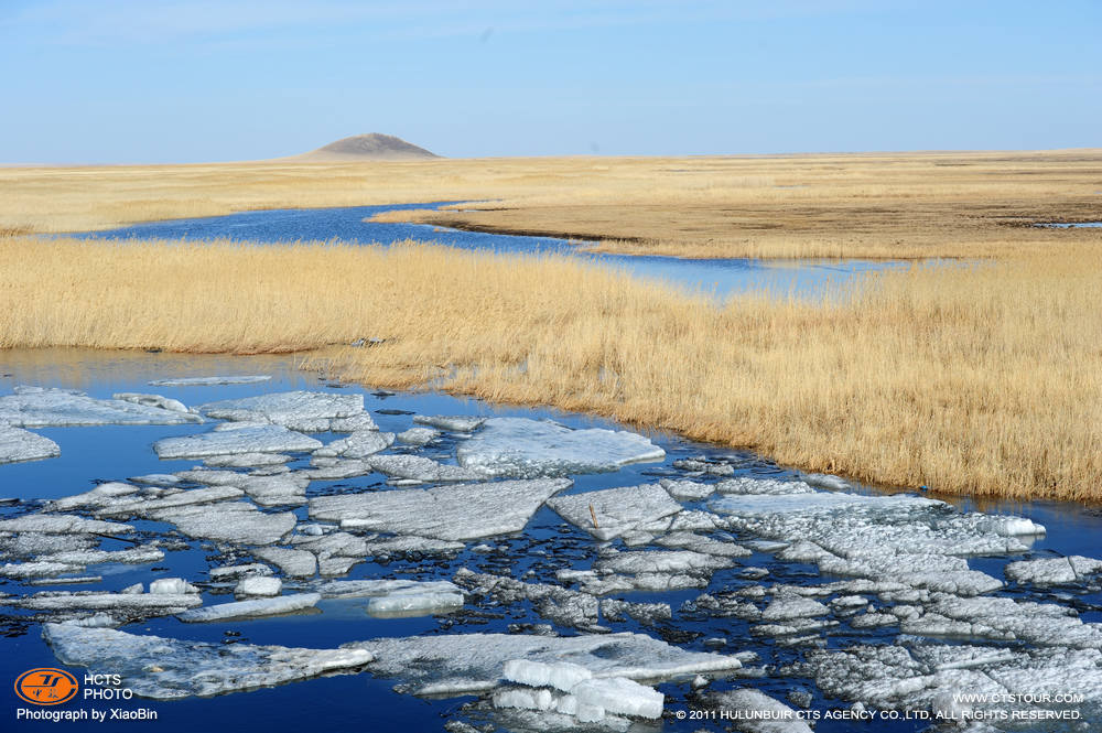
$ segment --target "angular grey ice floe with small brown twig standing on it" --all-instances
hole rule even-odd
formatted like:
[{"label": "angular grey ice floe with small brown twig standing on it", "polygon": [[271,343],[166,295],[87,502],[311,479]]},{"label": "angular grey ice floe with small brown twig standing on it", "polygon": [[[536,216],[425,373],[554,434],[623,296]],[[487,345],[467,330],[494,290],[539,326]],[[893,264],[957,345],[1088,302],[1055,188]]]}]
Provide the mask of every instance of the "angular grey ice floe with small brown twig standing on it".
[{"label": "angular grey ice floe with small brown twig standing on it", "polygon": [[[558,496],[548,506],[579,529],[607,540],[681,511],[681,505],[659,484],[605,488]],[[592,510],[591,510],[592,507]],[[669,522],[662,526],[669,528]],[[662,531],[662,530],[659,530]]]}]

